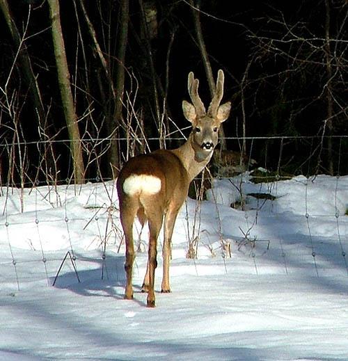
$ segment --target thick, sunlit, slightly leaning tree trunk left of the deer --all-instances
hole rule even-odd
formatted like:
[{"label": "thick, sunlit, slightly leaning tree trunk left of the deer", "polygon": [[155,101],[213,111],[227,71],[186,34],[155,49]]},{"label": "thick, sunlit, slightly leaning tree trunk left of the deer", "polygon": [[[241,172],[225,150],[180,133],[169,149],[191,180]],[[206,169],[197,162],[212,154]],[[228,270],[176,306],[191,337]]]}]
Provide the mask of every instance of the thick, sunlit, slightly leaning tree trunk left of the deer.
[{"label": "thick, sunlit, slightly leaning tree trunk left of the deer", "polygon": [[70,74],[61,29],[59,2],[58,0],[48,0],[48,3],[52,22],[52,40],[54,55],[56,57],[59,90],[61,91],[65,122],[68,127],[70,138],[70,152],[74,167],[74,180],[75,183],[81,184],[84,182],[84,161],[82,159],[81,138],[79,126],[77,124],[77,115],[75,113],[74,100],[72,99],[70,87]]}]

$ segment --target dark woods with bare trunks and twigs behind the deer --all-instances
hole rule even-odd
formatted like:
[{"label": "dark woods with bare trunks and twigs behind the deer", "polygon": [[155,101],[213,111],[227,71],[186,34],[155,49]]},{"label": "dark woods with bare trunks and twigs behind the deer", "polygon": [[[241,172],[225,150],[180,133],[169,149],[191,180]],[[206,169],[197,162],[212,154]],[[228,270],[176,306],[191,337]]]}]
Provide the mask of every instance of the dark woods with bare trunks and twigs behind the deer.
[{"label": "dark woods with bare trunks and twigs behind the deer", "polygon": [[187,74],[232,101],[221,147],[348,173],[347,2],[0,0],[1,186],[109,179],[176,147]]}]

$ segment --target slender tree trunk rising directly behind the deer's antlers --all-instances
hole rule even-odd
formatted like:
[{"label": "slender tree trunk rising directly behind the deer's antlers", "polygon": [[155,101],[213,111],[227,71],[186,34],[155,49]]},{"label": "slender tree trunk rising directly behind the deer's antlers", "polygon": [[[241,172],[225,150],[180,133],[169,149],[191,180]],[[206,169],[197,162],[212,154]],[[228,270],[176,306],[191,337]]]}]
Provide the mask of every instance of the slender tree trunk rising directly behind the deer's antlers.
[{"label": "slender tree trunk rising directly behind the deer's antlers", "polygon": [[[203,38],[202,26],[200,25],[200,6],[199,4],[195,4],[193,0],[189,0],[191,5],[192,15],[193,15],[193,23],[196,31],[196,38],[198,41],[198,47],[200,49],[200,55],[202,56],[203,65],[205,68],[205,74],[207,76],[207,81],[209,84],[210,96],[214,97],[215,93],[215,81],[212,72],[212,65],[210,65],[209,55],[207,53],[207,48],[205,47],[205,41]],[[223,125],[221,125],[219,129],[219,138],[221,143],[221,149],[226,150],[226,138],[225,131],[223,130]]]}]

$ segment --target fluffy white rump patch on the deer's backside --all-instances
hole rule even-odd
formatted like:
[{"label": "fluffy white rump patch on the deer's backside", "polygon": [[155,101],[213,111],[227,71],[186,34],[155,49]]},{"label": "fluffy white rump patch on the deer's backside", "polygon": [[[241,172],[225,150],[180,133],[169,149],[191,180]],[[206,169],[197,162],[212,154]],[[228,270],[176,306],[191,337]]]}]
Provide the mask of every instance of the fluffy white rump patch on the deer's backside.
[{"label": "fluffy white rump patch on the deer's backside", "polygon": [[161,190],[161,179],[154,175],[129,175],[123,182],[122,188],[127,195],[141,192],[156,194]]}]

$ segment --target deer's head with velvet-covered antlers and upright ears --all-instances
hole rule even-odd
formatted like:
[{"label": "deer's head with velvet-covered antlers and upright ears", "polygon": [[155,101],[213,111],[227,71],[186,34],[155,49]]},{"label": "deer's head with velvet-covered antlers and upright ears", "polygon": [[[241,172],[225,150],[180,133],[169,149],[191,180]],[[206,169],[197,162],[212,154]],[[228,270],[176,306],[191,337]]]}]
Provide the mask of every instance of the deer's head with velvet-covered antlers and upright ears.
[{"label": "deer's head with velvet-covered antlers and upright ears", "polygon": [[219,70],[214,97],[209,104],[208,111],[205,111],[205,106],[198,95],[199,81],[194,78],[193,72],[190,72],[188,88],[192,104],[186,100],[182,102],[184,116],[192,124],[192,145],[205,156],[212,154],[218,143],[221,123],[230,115],[231,103],[220,105],[223,97],[223,81],[223,71]]}]

